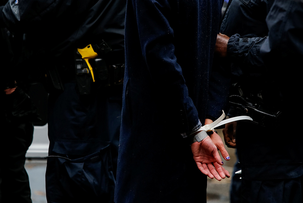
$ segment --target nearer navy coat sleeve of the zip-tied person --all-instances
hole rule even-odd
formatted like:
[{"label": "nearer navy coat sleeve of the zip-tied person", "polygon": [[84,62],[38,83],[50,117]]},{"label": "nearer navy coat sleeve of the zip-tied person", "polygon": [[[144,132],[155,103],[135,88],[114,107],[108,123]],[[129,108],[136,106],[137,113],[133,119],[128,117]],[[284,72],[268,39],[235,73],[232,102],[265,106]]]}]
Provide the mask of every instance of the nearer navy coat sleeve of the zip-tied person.
[{"label": "nearer navy coat sleeve of the zip-tied person", "polygon": [[201,123],[175,56],[171,5],[166,0],[132,0],[132,4],[142,56],[153,85],[161,95],[165,95],[166,101],[174,104],[175,111],[184,109],[188,126],[180,134],[187,137],[201,127]]}]

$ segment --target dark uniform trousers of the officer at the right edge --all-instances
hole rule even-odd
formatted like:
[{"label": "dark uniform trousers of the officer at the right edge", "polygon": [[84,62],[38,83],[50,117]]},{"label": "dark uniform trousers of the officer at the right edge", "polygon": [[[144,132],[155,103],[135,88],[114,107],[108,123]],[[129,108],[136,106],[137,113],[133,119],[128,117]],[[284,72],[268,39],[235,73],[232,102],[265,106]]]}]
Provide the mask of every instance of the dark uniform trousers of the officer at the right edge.
[{"label": "dark uniform trousers of the officer at the right edge", "polygon": [[302,137],[276,125],[238,121],[242,203],[301,203]]}]

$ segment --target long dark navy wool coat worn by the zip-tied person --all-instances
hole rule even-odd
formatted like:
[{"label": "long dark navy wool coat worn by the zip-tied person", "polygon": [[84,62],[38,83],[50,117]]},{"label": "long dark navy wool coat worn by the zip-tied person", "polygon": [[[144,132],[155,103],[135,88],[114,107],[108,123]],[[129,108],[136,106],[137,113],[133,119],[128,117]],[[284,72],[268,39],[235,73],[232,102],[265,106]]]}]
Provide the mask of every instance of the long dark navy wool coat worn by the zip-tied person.
[{"label": "long dark navy wool coat worn by the zip-tied person", "polygon": [[220,12],[220,0],[128,0],[116,203],[206,201],[182,136],[222,113],[207,107]]}]

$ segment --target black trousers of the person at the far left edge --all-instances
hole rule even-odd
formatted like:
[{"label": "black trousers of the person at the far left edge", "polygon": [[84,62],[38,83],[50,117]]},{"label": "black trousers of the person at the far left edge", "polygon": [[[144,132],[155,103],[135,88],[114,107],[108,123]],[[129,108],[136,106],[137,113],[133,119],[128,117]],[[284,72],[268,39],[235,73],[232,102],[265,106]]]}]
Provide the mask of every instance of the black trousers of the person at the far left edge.
[{"label": "black trousers of the person at the far left edge", "polygon": [[5,122],[0,136],[0,202],[31,203],[25,153],[32,143],[30,121]]}]

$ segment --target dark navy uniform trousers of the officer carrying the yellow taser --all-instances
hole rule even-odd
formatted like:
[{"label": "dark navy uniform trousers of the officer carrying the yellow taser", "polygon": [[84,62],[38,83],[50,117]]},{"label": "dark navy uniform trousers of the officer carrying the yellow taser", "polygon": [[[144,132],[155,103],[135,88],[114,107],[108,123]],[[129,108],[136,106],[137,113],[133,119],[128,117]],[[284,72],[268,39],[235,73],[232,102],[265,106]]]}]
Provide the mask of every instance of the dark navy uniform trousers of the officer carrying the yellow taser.
[{"label": "dark navy uniform trousers of the officer carrying the yellow taser", "polygon": [[47,201],[113,202],[122,86],[91,95],[79,95],[75,82],[64,89],[48,100],[48,155],[57,157],[47,160]]}]

